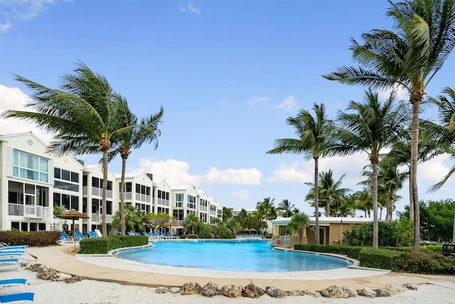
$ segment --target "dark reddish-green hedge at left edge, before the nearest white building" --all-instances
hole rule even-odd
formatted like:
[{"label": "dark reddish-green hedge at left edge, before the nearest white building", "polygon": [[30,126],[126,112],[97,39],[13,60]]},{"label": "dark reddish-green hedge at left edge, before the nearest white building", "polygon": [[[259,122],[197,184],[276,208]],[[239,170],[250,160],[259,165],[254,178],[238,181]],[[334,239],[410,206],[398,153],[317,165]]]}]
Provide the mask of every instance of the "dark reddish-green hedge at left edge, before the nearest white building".
[{"label": "dark reddish-green hedge at left edge, before the nearest white building", "polygon": [[0,231],[0,242],[8,245],[50,246],[60,239],[60,231]]}]

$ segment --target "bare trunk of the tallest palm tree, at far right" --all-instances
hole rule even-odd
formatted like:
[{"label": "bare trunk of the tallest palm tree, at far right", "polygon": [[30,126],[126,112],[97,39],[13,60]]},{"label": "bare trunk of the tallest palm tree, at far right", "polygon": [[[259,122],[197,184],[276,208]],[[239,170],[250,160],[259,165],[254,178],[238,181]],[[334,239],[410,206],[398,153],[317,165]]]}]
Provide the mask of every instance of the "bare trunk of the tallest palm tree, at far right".
[{"label": "bare trunk of the tallest palm tree, at far right", "polygon": [[412,129],[411,129],[411,196],[414,204],[414,237],[412,239],[412,251],[420,250],[420,210],[419,191],[417,189],[417,154],[419,152],[419,101],[412,103]]}]

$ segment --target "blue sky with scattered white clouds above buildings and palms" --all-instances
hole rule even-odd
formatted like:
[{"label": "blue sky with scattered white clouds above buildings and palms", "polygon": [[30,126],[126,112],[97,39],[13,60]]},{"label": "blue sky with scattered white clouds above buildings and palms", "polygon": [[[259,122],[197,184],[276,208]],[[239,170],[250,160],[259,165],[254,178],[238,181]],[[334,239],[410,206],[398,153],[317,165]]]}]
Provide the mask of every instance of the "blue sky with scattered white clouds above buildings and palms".
[{"label": "blue sky with scattered white clouds above buildings and palms", "polygon": [[[295,138],[286,120],[300,109],[324,103],[336,119],[350,100],[363,100],[366,88],[321,75],[355,64],[350,38],[392,29],[387,7],[385,0],[0,0],[0,112],[22,109],[31,93],[14,74],[58,88],[80,61],[104,75],[137,117],[164,107],[157,150],[132,151],[127,173],[193,185],[232,209],[254,209],[270,197],[313,215],[304,201],[313,160],[266,152],[274,140]],[[428,95],[455,88],[454,57]],[[437,111],[422,117],[436,120]],[[0,120],[2,134],[29,131],[51,139],[31,123]],[[77,159],[97,164],[99,157]],[[335,179],[346,174],[342,187],[357,191],[368,162],[367,154],[323,158],[319,170],[332,169]],[[454,179],[436,193],[427,188],[452,164],[442,155],[419,165],[419,199],[451,198]],[[121,159],[109,169],[120,173]],[[397,211],[407,193],[405,184]]]}]

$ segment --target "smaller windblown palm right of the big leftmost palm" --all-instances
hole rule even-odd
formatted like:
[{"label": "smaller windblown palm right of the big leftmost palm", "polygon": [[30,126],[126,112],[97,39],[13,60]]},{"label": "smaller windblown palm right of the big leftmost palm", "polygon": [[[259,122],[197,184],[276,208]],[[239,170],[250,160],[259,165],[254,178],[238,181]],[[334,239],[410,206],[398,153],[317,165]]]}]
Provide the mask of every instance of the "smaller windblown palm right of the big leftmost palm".
[{"label": "smaller windblown palm right of the big leftmost palm", "polygon": [[163,117],[164,109],[161,107],[160,111],[149,117],[143,117],[141,122],[137,124],[137,117],[129,111],[127,100],[122,96],[117,96],[117,102],[123,106],[122,111],[122,127],[135,126],[134,129],[129,129],[127,132],[123,132],[122,137],[119,140],[112,143],[113,150],[108,154],[108,159],[111,161],[115,155],[120,154],[122,157],[122,177],[120,179],[120,214],[122,221],[122,234],[125,234],[126,224],[124,216],[124,182],[125,172],[127,167],[127,159],[132,149],[139,149],[144,143],[154,143],[154,150],[158,147],[158,137],[161,135],[161,131],[158,129],[161,123],[161,117]]}]

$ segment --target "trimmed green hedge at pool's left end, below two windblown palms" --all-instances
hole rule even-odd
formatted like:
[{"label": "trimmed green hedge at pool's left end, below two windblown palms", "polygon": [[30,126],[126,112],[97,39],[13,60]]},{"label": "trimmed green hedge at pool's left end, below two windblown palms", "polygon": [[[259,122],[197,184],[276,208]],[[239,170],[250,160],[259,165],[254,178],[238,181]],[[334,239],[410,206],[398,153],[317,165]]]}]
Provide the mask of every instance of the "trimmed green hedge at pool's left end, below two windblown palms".
[{"label": "trimmed green hedge at pool's left end, below two windblown palms", "polygon": [[79,241],[80,254],[107,254],[109,251],[144,246],[149,243],[147,236],[107,236],[105,238],[83,239]]}]

